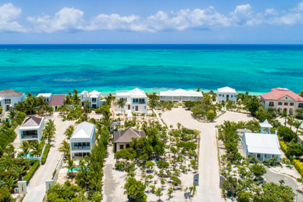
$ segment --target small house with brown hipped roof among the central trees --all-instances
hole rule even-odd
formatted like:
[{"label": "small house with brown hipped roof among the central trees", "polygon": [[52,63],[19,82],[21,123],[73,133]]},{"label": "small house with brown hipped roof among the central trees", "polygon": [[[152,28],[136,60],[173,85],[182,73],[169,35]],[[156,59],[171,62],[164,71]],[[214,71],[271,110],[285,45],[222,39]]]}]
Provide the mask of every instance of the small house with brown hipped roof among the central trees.
[{"label": "small house with brown hipped roof among the central trees", "polygon": [[120,151],[121,149],[128,148],[129,142],[132,138],[140,138],[145,136],[144,131],[138,131],[132,128],[116,131],[114,132],[114,150]]}]

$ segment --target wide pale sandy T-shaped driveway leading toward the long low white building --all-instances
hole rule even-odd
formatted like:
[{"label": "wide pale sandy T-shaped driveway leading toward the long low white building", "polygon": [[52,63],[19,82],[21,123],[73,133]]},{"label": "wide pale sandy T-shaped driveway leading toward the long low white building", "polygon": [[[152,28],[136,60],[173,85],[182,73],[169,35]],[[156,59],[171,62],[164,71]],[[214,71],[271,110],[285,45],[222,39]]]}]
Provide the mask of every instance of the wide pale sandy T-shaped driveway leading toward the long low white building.
[{"label": "wide pale sandy T-shaped driveway leading toward the long low white building", "polygon": [[217,146],[215,137],[215,125],[222,124],[224,120],[248,121],[251,116],[235,112],[226,112],[213,123],[201,123],[191,116],[190,111],[183,108],[173,108],[171,111],[162,113],[162,118],[167,126],[177,123],[190,129],[197,129],[200,133],[199,146],[199,185],[196,187],[195,201],[218,202],[221,198],[219,188],[219,167],[217,160]]}]

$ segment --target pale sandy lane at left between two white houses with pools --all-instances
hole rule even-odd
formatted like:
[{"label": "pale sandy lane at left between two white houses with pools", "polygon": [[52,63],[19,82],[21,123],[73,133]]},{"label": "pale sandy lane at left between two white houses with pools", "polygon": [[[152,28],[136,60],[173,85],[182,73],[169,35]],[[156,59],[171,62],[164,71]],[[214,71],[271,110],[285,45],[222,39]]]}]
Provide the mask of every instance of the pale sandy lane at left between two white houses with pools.
[{"label": "pale sandy lane at left between two white houses with pools", "polygon": [[68,126],[75,123],[75,121],[62,122],[60,118],[55,118],[54,120],[57,131],[52,139],[46,162],[36,170],[31,178],[23,202],[41,202],[43,200],[46,190],[45,180],[52,179],[53,172],[62,156],[58,148],[60,143],[65,139],[64,131]]}]

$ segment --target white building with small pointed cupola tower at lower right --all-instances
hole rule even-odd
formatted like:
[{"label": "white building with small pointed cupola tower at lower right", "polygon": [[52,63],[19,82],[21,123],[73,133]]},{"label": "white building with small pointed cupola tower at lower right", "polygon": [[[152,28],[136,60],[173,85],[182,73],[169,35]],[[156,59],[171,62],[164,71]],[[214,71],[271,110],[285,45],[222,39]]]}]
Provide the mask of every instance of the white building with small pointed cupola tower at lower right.
[{"label": "white building with small pointed cupola tower at lower right", "polygon": [[260,124],[261,133],[251,133],[244,130],[241,144],[244,151],[244,155],[253,155],[260,162],[266,162],[267,160],[276,157],[277,162],[281,159],[280,144],[277,135],[270,134],[270,128],[272,126],[265,120]]}]

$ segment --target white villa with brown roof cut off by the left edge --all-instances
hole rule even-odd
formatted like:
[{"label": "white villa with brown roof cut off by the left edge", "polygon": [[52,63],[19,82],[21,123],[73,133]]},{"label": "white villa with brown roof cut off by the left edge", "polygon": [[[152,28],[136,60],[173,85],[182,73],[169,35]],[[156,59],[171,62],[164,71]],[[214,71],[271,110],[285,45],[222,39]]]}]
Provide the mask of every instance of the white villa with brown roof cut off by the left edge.
[{"label": "white villa with brown roof cut off by the left edge", "polygon": [[3,89],[0,91],[0,107],[2,107],[2,113],[10,111],[12,107],[19,101],[25,99],[25,94],[13,89]]}]

